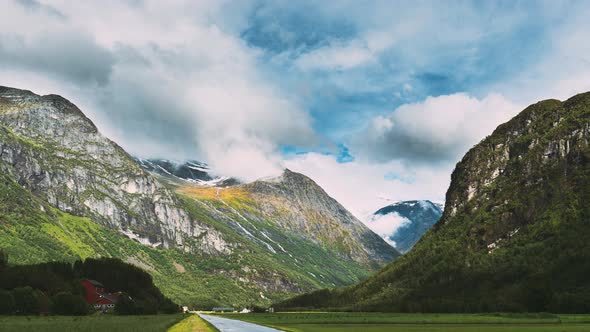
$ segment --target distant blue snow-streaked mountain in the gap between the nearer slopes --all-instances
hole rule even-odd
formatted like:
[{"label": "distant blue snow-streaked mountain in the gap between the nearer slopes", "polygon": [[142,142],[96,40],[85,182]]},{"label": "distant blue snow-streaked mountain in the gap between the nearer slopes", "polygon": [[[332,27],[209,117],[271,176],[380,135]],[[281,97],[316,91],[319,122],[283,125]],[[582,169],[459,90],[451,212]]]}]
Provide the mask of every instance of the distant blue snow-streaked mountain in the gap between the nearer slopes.
[{"label": "distant blue snow-streaked mountain in the gap between the nearer slopes", "polygon": [[[373,213],[368,223],[395,227],[384,238],[395,249],[406,253],[442,215],[444,206],[428,200],[402,201],[385,206]],[[396,227],[396,225],[399,225]]]}]

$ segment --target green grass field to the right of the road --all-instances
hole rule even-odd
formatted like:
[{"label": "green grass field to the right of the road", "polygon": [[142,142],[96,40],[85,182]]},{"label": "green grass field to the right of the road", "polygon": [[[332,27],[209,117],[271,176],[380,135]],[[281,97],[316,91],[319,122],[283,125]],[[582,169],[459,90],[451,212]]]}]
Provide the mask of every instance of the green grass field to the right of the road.
[{"label": "green grass field to the right of the road", "polygon": [[276,313],[224,314],[291,332],[587,332],[590,315]]}]

